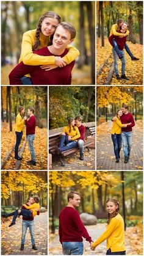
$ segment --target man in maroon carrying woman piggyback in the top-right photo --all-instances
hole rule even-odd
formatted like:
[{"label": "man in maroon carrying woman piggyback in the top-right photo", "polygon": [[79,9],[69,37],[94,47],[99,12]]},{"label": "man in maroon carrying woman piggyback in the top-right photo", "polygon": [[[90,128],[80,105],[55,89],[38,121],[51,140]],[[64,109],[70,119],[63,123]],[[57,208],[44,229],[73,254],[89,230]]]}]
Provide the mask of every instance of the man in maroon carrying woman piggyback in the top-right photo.
[{"label": "man in maroon carrying woman piggyback in the top-right photo", "polygon": [[[123,25],[121,26],[121,30],[118,31],[118,33],[125,34],[127,28],[128,28],[128,25],[127,25],[127,23],[124,22]],[[126,37],[111,35],[109,37],[109,42],[112,46],[113,46],[113,38],[115,38],[115,41],[117,42],[117,45],[118,45],[118,49],[120,50],[120,54],[121,54],[121,56],[123,56],[120,59],[121,60],[121,77],[120,77],[118,75],[118,55],[117,55],[117,52],[115,51],[115,48],[112,49],[115,75],[117,77],[117,80],[120,80],[120,79],[129,80],[129,78],[127,78],[126,75],[125,75],[126,57],[125,57],[125,54],[124,54],[124,51],[123,51],[124,45],[126,43]]]}]

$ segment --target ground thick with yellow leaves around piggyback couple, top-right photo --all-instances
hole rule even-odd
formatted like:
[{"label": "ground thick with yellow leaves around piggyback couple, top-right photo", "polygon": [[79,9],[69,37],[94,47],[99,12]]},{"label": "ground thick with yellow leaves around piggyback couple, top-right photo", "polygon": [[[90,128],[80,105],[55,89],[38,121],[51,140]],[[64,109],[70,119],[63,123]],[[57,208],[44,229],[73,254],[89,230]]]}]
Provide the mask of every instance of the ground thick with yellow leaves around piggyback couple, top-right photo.
[{"label": "ground thick with yellow leaves around piggyback couple, top-right photo", "polygon": [[[101,46],[101,40],[97,38],[96,46],[96,70],[98,71],[99,67],[104,63],[104,61],[109,57],[109,62],[104,66],[103,71],[96,78],[96,84],[103,85],[106,82],[107,75],[109,74],[110,65],[113,64],[113,55],[112,55],[112,46],[109,43],[109,40],[105,38],[105,46]],[[133,84],[133,85],[142,85],[143,84],[143,46],[138,43],[127,42],[129,48],[131,49],[132,54],[139,58],[138,61],[132,61],[131,57],[126,53],[126,76],[128,76],[129,81],[121,79],[117,80],[114,73],[112,78],[112,85],[123,85],[123,84]],[[121,61],[118,62],[118,72],[121,75]]]}]

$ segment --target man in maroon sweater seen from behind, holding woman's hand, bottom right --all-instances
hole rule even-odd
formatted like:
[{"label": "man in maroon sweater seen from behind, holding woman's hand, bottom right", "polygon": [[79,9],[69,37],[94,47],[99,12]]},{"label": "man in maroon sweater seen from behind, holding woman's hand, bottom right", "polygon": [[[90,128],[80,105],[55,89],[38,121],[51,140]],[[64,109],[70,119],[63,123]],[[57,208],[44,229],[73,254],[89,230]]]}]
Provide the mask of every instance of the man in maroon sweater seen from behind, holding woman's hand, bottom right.
[{"label": "man in maroon sweater seen from behind, holding woman's hand, bottom right", "polygon": [[81,197],[78,192],[68,193],[68,205],[59,214],[59,240],[64,255],[82,255],[84,245],[82,236],[91,244],[92,238],[81,221],[76,207],[79,207]]}]

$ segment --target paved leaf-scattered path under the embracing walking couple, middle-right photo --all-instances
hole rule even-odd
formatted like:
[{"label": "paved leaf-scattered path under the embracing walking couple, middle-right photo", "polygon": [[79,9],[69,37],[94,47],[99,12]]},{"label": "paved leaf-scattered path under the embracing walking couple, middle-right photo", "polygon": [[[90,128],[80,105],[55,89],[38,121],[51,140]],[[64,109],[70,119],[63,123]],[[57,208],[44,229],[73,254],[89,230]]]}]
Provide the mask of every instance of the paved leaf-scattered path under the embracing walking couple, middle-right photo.
[{"label": "paved leaf-scattered path under the embracing walking couple, middle-right photo", "polygon": [[132,149],[129,162],[124,164],[123,148],[120,152],[120,162],[115,163],[113,144],[110,130],[112,122],[106,123],[106,134],[99,135],[96,143],[96,169],[97,170],[142,170],[143,169],[143,144],[142,131],[139,126],[132,128]]}]

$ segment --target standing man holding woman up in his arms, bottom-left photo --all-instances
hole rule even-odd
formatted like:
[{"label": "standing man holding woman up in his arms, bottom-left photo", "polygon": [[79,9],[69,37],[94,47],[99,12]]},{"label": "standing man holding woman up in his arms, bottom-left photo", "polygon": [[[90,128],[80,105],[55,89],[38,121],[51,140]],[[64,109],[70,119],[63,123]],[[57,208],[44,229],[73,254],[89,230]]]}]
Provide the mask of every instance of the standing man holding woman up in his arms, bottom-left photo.
[{"label": "standing man holding woman up in his arms, bottom-left photo", "polygon": [[[32,196],[30,196],[27,199],[26,205],[30,206],[33,203],[34,203],[34,198]],[[27,210],[24,206],[22,206],[21,209]],[[40,214],[40,211],[37,211],[37,215],[39,215],[39,214]],[[34,218],[26,219],[24,217],[23,217],[23,222],[22,222],[21,251],[24,250],[27,227],[29,227],[29,232],[31,234],[32,249],[36,251],[37,247],[35,246],[35,238],[34,238]]]}]

